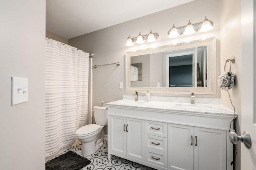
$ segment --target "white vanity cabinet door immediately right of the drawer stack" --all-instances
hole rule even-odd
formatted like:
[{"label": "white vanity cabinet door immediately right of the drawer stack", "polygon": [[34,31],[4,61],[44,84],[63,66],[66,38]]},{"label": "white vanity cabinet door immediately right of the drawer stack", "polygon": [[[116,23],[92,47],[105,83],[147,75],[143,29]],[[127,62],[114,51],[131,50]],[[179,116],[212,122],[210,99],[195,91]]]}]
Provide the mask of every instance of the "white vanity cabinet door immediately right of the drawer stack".
[{"label": "white vanity cabinet door immediately right of the drawer stack", "polygon": [[193,170],[194,127],[171,123],[167,127],[167,169]]}]

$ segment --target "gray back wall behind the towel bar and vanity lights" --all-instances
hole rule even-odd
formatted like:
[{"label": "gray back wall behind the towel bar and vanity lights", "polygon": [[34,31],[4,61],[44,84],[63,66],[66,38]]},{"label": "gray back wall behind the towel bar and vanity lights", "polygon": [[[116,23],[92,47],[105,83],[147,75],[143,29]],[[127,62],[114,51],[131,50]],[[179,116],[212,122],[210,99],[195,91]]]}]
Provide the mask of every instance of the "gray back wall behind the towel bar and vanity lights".
[{"label": "gray back wall behind the towel bar and vanity lights", "polygon": [[[125,43],[128,35],[136,37],[139,32],[142,35],[146,35],[152,29],[153,32],[159,34],[159,38],[155,43],[145,43],[144,45],[146,47],[152,44],[156,46],[167,45],[174,41],[168,38],[167,35],[173,23],[175,23],[176,27],[185,26],[188,20],[192,23],[198,23],[202,22],[205,16],[214,22],[214,29],[210,32],[212,34],[215,33],[215,35],[196,32],[189,37],[198,39],[198,36],[201,35],[218,36],[219,1],[195,0],[181,6],[69,39],[69,45],[87,52],[94,52],[93,64],[120,62],[120,66],[110,65],[93,69],[92,106],[99,105],[102,100],[106,102],[119,100],[125,94],[125,89],[119,89],[119,82],[125,82],[125,52],[142,47],[140,45],[126,47]],[[177,38],[177,40],[181,39],[184,39],[183,42],[186,41],[184,35],[180,35]],[[90,118],[88,119],[90,120]]]}]

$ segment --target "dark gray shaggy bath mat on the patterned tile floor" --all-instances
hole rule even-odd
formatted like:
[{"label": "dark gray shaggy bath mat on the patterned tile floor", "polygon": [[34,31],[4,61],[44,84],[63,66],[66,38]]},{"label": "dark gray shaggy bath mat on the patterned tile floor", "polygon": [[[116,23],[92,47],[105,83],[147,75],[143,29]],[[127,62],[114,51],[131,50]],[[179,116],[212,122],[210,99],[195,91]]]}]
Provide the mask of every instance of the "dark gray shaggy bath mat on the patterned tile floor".
[{"label": "dark gray shaggy bath mat on the patterned tile floor", "polygon": [[71,150],[45,163],[46,170],[81,170],[91,161]]}]

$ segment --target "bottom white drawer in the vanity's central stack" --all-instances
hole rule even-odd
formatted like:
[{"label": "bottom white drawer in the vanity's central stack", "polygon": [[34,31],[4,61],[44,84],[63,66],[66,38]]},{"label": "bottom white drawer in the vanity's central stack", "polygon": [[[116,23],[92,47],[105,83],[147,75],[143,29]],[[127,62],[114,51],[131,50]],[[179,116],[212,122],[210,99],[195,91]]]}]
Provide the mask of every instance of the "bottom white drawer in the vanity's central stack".
[{"label": "bottom white drawer in the vanity's central stack", "polygon": [[167,168],[167,154],[151,149],[145,149],[146,162]]}]

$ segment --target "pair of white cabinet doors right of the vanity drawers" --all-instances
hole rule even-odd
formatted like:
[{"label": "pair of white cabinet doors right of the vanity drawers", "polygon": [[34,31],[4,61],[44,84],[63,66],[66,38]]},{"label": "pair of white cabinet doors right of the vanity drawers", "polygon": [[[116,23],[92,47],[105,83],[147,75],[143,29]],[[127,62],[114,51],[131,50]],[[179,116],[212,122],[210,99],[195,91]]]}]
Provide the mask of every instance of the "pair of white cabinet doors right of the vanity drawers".
[{"label": "pair of white cabinet doors right of the vanity drawers", "polygon": [[168,169],[226,169],[226,131],[172,123],[167,126]]}]

